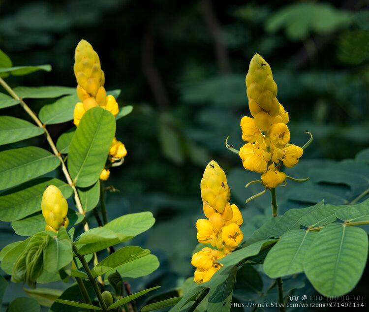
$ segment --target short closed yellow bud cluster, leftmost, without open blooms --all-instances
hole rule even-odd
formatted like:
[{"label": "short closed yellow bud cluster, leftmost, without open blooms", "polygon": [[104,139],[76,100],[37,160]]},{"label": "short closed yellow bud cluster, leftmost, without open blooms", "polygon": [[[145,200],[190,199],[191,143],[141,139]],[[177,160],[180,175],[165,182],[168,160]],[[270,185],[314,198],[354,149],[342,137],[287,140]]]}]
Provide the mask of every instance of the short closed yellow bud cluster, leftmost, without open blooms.
[{"label": "short closed yellow bud cluster, leftmost, without open blooms", "polygon": [[68,226],[68,203],[58,187],[50,185],[46,188],[42,195],[41,210],[46,221],[45,230],[58,232],[62,226]]}]

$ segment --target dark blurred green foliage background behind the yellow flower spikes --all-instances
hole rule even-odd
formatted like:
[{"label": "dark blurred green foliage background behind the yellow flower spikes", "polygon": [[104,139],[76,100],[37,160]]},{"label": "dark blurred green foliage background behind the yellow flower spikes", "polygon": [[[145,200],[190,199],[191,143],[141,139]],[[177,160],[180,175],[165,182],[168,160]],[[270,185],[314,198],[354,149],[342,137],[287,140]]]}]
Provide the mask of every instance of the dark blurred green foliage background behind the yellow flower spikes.
[{"label": "dark blurred green foliage background behind the yellow flower spikes", "polygon": [[[235,147],[242,144],[239,123],[248,111],[245,75],[256,52],[271,64],[278,99],[289,112],[291,142],[304,144],[305,131],[314,135],[297,169],[301,177],[309,168],[354,158],[369,145],[367,1],[213,1],[210,11],[204,3],[209,1],[94,0],[92,5],[89,0],[4,0],[0,4],[0,49],[16,65],[53,67],[51,72],[9,77],[10,85],[74,88],[74,47],[85,38],[109,73],[108,90],[122,89],[119,104],[134,107],[118,126],[117,137],[128,155],[109,183],[119,191],[107,194],[110,218],[150,210],[157,220],[136,243],[150,245],[160,258],[160,268],[132,282],[134,292],[160,284],[163,292],[171,293],[193,273],[194,224],[202,215],[199,184],[211,158],[225,169],[232,200],[239,207],[255,191],[245,190],[252,174],[224,148],[224,140],[230,135]],[[27,102],[38,112],[47,101]],[[4,108],[2,115],[10,111],[14,116],[13,108]],[[15,115],[27,119],[22,111]],[[50,133],[56,139],[71,126],[52,125]],[[22,142],[14,145],[19,146]],[[280,189],[282,211],[301,207],[287,197],[294,192],[290,186]],[[344,189],[349,187],[335,192]],[[244,209],[245,237],[264,223],[269,204],[265,196]],[[93,216],[89,222],[93,223]],[[5,223],[0,227],[2,247],[15,236]],[[270,282],[266,279],[257,286],[268,288]],[[299,281],[295,288],[303,284],[305,288],[295,292],[308,294],[308,281]],[[365,293],[363,287],[367,286],[359,284],[355,294]],[[4,303],[17,296],[25,293],[10,284]]]}]

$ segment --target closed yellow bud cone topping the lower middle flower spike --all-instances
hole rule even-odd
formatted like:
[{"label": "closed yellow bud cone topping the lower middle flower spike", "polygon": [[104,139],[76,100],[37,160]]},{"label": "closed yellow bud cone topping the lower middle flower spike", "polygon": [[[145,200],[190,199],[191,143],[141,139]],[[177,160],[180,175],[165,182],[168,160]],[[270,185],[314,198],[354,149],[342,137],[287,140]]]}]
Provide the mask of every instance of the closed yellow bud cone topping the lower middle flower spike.
[{"label": "closed yellow bud cone topping the lower middle flower spike", "polygon": [[225,173],[216,161],[211,160],[206,166],[200,187],[202,200],[218,213],[222,213],[230,199],[231,191]]}]

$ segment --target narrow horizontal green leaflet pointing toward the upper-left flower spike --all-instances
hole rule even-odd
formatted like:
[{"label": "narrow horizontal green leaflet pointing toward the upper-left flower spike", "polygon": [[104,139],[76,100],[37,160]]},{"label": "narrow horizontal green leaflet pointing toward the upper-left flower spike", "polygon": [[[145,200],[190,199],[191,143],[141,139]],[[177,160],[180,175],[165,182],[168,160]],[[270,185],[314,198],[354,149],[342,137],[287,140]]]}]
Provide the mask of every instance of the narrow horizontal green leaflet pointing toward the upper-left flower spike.
[{"label": "narrow horizontal green leaflet pointing toward the upper-left flower spike", "polygon": [[53,98],[67,94],[75,94],[75,88],[48,87],[16,87],[13,91],[21,98]]}]

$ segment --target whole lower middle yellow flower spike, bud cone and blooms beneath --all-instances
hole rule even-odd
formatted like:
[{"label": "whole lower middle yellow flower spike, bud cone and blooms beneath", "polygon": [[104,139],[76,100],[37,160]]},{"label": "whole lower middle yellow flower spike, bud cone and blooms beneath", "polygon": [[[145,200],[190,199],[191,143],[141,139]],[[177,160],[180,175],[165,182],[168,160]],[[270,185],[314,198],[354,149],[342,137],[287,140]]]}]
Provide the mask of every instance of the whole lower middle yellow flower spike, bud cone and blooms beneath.
[{"label": "whole lower middle yellow flower spike, bud cone and blooms beneath", "polygon": [[227,178],[216,161],[206,166],[200,187],[206,219],[196,222],[197,240],[216,249],[206,247],[192,256],[197,283],[209,281],[221,267],[217,260],[235,250],[244,238],[240,229],[244,220],[238,207],[229,203]]}]

